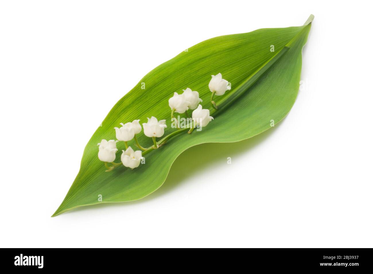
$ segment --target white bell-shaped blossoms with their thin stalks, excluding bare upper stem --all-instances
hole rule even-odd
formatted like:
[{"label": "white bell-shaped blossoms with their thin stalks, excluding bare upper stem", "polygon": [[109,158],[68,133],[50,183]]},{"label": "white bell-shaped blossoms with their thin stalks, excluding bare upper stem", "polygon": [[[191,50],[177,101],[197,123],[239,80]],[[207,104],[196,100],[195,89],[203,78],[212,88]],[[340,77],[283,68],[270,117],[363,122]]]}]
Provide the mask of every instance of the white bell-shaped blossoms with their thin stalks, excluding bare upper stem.
[{"label": "white bell-shaped blossoms with their thin stalks, excluding bare upper stem", "polygon": [[[218,73],[216,76],[212,75],[212,78],[209,83],[209,89],[211,90],[211,104],[212,106],[217,109],[216,103],[213,101],[214,95],[223,95],[227,90],[231,89],[231,83],[227,80],[222,78],[222,74]],[[199,103],[202,102],[202,99],[199,96],[197,91],[192,91],[189,87],[183,89],[182,94],[178,94],[175,92],[172,98],[169,99],[169,106],[171,108],[171,118],[172,120],[175,119],[173,114],[176,113],[185,113],[186,116],[189,118],[189,114],[187,110],[191,109],[192,111],[192,126],[190,126],[190,120],[187,124],[181,123],[179,126],[179,120],[177,120],[177,128],[178,130],[175,132],[170,133],[163,139],[157,142],[157,137],[160,138],[164,135],[164,129],[167,127],[166,120],[158,121],[156,117],[152,116],[148,118],[147,123],[142,123],[142,127],[144,128],[145,136],[152,138],[153,145],[148,148],[142,147],[137,139],[137,134],[139,134],[142,130],[140,125],[140,120],[133,120],[132,122],[123,124],[120,123],[121,127],[115,127],[116,138],[118,141],[124,141],[124,145],[126,150],[122,150],[122,155],[120,157],[121,163],[115,163],[116,152],[118,149],[116,148],[116,142],[114,140],[106,141],[102,140],[101,143],[98,143],[98,158],[105,162],[105,166],[107,168],[106,172],[109,172],[115,169],[118,166],[129,167],[134,169],[138,167],[141,163],[141,160],[144,159],[142,154],[147,154],[152,150],[155,150],[166,143],[166,141],[174,135],[178,135],[181,132],[185,132],[185,129],[189,129],[188,133],[192,133],[192,131],[196,127],[205,127],[207,124],[210,123],[211,120],[214,118],[210,116],[210,111],[208,109],[203,109],[202,105]],[[175,122],[175,121],[173,121]],[[185,127],[186,126],[186,127]],[[141,150],[134,151],[131,147],[128,146],[128,141],[134,139],[135,144]]]}]

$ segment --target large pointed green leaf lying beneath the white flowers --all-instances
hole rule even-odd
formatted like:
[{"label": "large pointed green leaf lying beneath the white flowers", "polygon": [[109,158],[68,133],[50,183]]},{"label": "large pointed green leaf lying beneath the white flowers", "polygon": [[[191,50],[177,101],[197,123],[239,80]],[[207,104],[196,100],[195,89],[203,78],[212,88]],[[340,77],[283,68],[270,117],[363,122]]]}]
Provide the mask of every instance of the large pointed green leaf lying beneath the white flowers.
[{"label": "large pointed green leaf lying beneath the white flowers", "polygon": [[[79,206],[141,199],[165,181],[173,161],[187,148],[206,142],[237,142],[257,135],[278,123],[290,111],[299,89],[302,48],[307,41],[313,15],[303,26],[266,28],[203,41],[159,65],[119,100],[98,127],[87,146],[81,167],[65,199],[52,216]],[[274,52],[271,46],[274,46]],[[222,73],[232,90],[215,96],[213,111],[208,88],[211,75]],[[142,89],[145,83],[145,89]],[[190,87],[200,93],[203,108],[214,120],[192,134],[173,136],[165,145],[145,155],[146,163],[134,170],[119,166],[111,172],[98,160],[97,143],[115,139],[116,126],[147,117],[167,119],[164,136],[171,127],[168,99],[173,92]],[[99,124],[99,123],[98,123]],[[143,147],[151,138],[138,135]],[[129,145],[135,147],[134,141]],[[123,142],[117,148],[124,149]],[[117,153],[116,162],[120,162]],[[98,195],[102,201],[98,201]]]}]

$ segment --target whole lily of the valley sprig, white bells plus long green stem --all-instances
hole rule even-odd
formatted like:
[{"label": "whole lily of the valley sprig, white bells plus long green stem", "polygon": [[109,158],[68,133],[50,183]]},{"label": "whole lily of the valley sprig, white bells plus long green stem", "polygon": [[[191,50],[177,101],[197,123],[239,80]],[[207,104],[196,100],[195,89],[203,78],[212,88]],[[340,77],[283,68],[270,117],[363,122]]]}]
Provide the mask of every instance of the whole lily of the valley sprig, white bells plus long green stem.
[{"label": "whole lily of the valley sprig, white bells plus long green stem", "polygon": [[[241,95],[249,87],[251,87],[256,82],[256,80],[274,64],[274,62],[276,62],[284,53],[287,52],[288,49],[289,47],[285,46],[283,47],[283,49],[279,50],[275,55],[269,58],[267,62],[265,62],[260,68],[258,68],[253,74],[251,74],[246,81],[238,86],[234,92],[230,92],[228,96],[223,98],[220,101],[219,110],[221,111],[222,108],[227,107],[239,95]],[[214,101],[214,96],[222,96],[227,90],[231,90],[231,83],[223,79],[222,74],[220,73],[216,74],[216,76],[212,75],[211,77],[212,78],[209,83],[209,89],[211,91],[211,106],[213,107],[211,114],[213,114],[217,111],[217,105]],[[173,97],[169,99],[169,106],[171,108],[171,120],[176,119],[174,116],[175,113],[185,113],[185,116],[190,119],[188,110],[193,110],[191,115],[192,119],[191,121],[188,121],[188,124],[186,124],[185,127],[183,124],[183,128],[180,128],[179,121],[177,121],[177,129],[174,132],[171,132],[168,135],[164,136],[157,142],[156,137],[160,138],[164,135],[164,129],[167,127],[167,125],[166,120],[158,121],[157,118],[152,116],[151,118],[148,118],[147,123],[142,124],[144,134],[150,137],[153,141],[153,145],[151,147],[144,148],[138,142],[136,134],[140,133],[142,130],[142,127],[139,123],[140,120],[134,120],[132,121],[132,123],[129,122],[126,124],[120,123],[122,127],[115,127],[117,141],[106,141],[103,139],[101,143],[98,143],[98,158],[104,162],[107,172],[112,171],[122,164],[125,167],[135,169],[140,166],[141,161],[144,160],[144,155],[166,144],[166,142],[170,138],[186,131],[191,134],[194,131],[195,127],[198,127],[197,131],[200,131],[199,129],[207,126],[207,124],[209,124],[210,121],[214,119],[210,116],[209,109],[202,108],[202,105],[200,104],[200,102],[202,102],[202,99],[199,98],[199,94],[197,91],[192,91],[189,88],[186,88],[183,91],[184,92],[182,94],[178,94],[177,92],[174,93]],[[140,150],[134,151],[128,145],[128,142],[132,139],[134,139],[135,145]],[[126,148],[125,151],[122,150],[122,163],[114,162],[116,158],[115,153],[118,151],[116,148],[116,142],[118,141],[123,141]],[[112,166],[109,166],[108,163],[111,163]]]}]

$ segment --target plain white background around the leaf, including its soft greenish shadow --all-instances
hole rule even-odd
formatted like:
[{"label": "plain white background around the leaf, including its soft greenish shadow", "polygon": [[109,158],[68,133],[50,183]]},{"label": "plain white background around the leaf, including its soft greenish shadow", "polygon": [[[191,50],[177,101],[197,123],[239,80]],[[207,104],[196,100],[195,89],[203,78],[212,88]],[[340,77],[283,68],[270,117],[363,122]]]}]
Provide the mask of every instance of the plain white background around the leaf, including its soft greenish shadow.
[{"label": "plain white background around the leaf, including its soft greenish shadow", "polygon": [[[370,11],[367,1],[1,1],[1,247],[373,247]],[[305,89],[275,128],[204,144],[211,155],[189,149],[142,200],[50,217],[88,139],[142,76],[200,41],[311,13]]]}]

